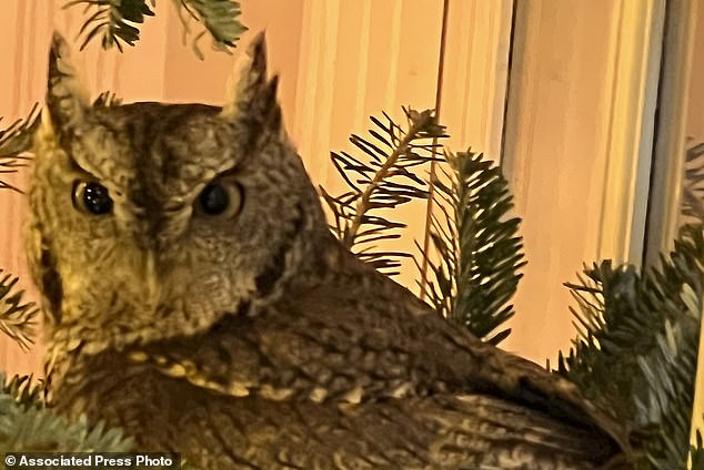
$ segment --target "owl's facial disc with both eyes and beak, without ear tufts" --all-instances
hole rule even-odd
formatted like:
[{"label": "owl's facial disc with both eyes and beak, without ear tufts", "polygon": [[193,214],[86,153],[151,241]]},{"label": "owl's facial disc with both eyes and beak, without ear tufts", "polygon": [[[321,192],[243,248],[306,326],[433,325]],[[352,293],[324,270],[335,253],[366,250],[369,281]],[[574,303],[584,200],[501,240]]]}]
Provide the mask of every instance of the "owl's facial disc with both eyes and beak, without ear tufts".
[{"label": "owl's facial disc with both eyes and beak, without ear tufts", "polygon": [[[144,116],[147,109],[135,105],[134,114]],[[159,110],[163,121],[167,108]],[[111,122],[124,119],[124,111],[109,110]],[[204,164],[184,139],[162,144],[171,142],[167,133],[153,146],[123,145],[122,135],[134,134],[115,127],[107,132],[94,123],[71,141],[71,154],[57,154],[59,165],[42,170],[64,182],[50,204],[69,208],[71,219],[46,234],[52,246],[72,246],[52,249],[63,287],[57,331],[80,330],[66,334],[86,339],[84,351],[159,338],[168,324],[171,334],[202,330],[249,302],[265,263],[249,238],[261,229],[261,214],[251,207],[243,213],[252,182],[242,168],[225,157]],[[147,154],[153,155],[148,162],[141,156]],[[123,157],[122,165],[105,171],[95,163],[104,155],[111,162]],[[168,166],[173,160],[183,164]]]}]

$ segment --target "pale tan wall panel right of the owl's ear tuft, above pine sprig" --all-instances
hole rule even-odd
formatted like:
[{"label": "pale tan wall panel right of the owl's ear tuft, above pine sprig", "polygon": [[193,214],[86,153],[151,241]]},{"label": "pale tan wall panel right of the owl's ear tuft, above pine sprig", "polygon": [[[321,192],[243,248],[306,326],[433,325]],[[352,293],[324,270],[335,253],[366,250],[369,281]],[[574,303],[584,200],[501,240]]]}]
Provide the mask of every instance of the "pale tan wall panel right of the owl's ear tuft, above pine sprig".
[{"label": "pale tan wall panel right of the owl's ear tuft, above pine sprig", "polygon": [[315,183],[338,190],[330,151],[370,114],[433,106],[441,12],[435,0],[304,0],[292,136]]}]

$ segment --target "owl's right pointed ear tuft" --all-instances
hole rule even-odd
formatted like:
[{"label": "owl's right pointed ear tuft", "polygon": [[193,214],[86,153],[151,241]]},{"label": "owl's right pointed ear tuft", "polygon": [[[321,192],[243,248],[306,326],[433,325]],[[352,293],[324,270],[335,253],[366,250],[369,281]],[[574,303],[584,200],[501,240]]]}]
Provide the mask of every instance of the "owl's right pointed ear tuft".
[{"label": "owl's right pointed ear tuft", "polygon": [[[232,82],[237,81],[237,85]],[[231,94],[222,109],[222,116],[245,120],[250,124],[269,130],[281,129],[281,108],[276,101],[279,78],[266,76],[266,40],[260,32],[250,44],[247,54],[235,63],[228,91]]]}]

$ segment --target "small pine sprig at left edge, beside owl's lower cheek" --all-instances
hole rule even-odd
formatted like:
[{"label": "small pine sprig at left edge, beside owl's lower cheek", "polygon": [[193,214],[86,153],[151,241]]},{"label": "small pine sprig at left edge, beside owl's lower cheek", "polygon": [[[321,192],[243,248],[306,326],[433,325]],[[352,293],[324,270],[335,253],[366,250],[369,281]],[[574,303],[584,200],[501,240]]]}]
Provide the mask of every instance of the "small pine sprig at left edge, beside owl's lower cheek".
[{"label": "small pine sprig at left edge, beside owl's lower cheek", "polygon": [[24,290],[13,292],[19,278],[2,275],[0,269],[0,331],[28,349],[33,343],[39,308],[33,302],[23,304]]}]

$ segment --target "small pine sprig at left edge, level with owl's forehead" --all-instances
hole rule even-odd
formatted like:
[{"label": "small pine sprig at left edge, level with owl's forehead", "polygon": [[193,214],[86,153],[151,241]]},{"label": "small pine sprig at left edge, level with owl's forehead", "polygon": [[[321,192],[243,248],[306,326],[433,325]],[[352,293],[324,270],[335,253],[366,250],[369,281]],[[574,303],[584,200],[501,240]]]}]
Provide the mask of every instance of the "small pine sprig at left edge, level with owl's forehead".
[{"label": "small pine sprig at left edge, level with owl's forehead", "polygon": [[[26,162],[31,160],[27,152],[32,146],[34,131],[40,123],[39,114],[39,105],[34,104],[26,119],[17,120],[7,129],[0,129],[0,174],[16,173],[19,168],[27,166]],[[19,187],[2,180],[0,180],[0,190],[22,193]]]}]

